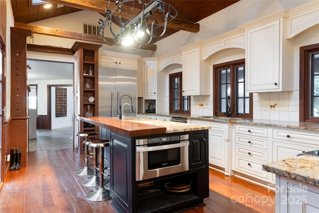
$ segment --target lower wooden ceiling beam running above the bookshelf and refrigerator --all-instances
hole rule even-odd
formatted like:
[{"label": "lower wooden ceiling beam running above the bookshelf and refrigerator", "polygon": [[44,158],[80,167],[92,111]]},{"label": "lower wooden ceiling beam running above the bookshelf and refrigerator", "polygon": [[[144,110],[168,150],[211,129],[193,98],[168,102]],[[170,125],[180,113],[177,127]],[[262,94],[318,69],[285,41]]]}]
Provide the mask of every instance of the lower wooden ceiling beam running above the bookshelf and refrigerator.
[{"label": "lower wooden ceiling beam running above the bookshelf and refrigerator", "polygon": [[[105,44],[105,42],[103,41],[103,38],[99,35],[88,35],[88,34],[83,34],[78,32],[71,32],[71,31],[67,31],[63,29],[56,29],[56,28],[26,24],[26,23],[19,23],[19,22],[14,22],[14,27],[21,28],[21,29],[30,29],[32,30],[33,33],[36,33],[36,34],[50,35],[50,36],[56,36],[56,37],[62,37],[62,38],[70,38],[70,39]],[[110,40],[110,42],[112,41]],[[140,49],[156,50],[157,45],[146,44],[146,45],[142,45]]]}]

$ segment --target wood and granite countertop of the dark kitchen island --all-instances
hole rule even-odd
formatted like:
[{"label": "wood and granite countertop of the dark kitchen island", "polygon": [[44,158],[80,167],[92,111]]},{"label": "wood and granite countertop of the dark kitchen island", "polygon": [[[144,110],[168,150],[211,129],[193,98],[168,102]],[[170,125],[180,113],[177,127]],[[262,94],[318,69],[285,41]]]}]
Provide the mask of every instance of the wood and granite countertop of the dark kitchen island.
[{"label": "wood and granite countertop of the dark kitchen island", "polygon": [[209,126],[197,124],[137,119],[135,117],[119,120],[118,118],[92,116],[80,117],[80,120],[129,137],[210,129]]}]

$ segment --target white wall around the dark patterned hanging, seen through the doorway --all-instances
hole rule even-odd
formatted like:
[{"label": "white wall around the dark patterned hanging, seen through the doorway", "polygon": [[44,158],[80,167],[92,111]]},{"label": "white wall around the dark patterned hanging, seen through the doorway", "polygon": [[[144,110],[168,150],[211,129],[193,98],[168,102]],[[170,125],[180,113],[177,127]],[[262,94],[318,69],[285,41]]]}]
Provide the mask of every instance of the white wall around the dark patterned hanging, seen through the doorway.
[{"label": "white wall around the dark patterned hanging, seen through the doorway", "polygon": [[[60,86],[59,86],[60,87]],[[63,87],[67,89],[67,112],[65,117],[55,117],[55,88],[51,87],[51,128],[61,128],[72,126],[73,120],[73,87]]]}]

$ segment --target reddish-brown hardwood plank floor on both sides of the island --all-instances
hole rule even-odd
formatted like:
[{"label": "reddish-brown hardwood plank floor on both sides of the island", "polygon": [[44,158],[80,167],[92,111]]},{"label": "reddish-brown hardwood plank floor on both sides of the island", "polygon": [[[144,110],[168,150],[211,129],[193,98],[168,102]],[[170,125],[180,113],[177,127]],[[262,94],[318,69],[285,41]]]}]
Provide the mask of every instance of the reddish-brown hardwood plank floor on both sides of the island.
[{"label": "reddish-brown hardwood plank floor on both sides of the island", "polygon": [[[0,213],[115,213],[110,203],[89,202],[73,172],[84,165],[76,149],[29,152],[27,166],[9,171],[0,186]],[[273,213],[275,193],[210,169],[205,207],[185,213]],[[273,203],[272,203],[273,202]]]}]

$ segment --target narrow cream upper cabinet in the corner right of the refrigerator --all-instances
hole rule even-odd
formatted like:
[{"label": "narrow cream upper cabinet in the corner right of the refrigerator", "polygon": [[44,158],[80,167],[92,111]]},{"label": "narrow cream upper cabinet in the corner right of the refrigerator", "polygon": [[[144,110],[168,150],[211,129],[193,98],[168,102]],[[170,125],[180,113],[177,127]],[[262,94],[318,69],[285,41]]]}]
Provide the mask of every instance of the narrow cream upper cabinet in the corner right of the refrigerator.
[{"label": "narrow cream upper cabinet in the corner right of the refrigerator", "polygon": [[157,61],[144,62],[144,98],[157,97]]}]

